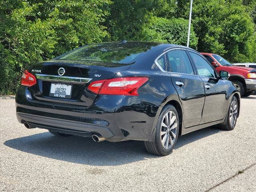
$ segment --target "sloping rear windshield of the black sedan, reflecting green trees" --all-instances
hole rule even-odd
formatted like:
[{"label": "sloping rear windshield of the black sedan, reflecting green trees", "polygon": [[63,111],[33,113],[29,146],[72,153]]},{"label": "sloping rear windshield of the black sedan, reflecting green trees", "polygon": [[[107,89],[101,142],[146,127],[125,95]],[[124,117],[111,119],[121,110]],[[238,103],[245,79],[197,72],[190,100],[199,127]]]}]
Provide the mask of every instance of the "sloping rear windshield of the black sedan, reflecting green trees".
[{"label": "sloping rear windshield of the black sedan, reflecting green trees", "polygon": [[75,60],[91,62],[108,62],[118,64],[131,64],[143,56],[153,44],[140,42],[110,42],[92,44],[77,48],[58,56],[55,60]]}]

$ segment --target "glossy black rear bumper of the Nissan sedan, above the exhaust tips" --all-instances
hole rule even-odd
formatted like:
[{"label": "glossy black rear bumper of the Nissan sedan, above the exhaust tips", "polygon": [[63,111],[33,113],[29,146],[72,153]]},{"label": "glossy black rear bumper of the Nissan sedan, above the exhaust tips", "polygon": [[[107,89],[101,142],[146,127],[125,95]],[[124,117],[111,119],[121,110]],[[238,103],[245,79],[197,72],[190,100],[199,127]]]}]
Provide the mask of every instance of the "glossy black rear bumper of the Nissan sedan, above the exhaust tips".
[{"label": "glossy black rear bumper of the Nissan sedan, above the exhaust tips", "polygon": [[80,136],[98,133],[110,141],[150,140],[156,111],[138,96],[104,95],[91,106],[78,106],[37,100],[24,86],[16,94],[20,123]]}]

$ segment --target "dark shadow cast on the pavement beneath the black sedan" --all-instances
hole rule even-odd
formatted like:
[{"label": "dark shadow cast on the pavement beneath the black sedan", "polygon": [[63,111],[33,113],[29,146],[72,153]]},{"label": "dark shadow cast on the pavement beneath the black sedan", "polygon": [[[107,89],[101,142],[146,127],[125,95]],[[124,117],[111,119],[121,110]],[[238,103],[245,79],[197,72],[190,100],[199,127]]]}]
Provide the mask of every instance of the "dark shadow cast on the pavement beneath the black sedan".
[{"label": "dark shadow cast on the pavement beneath the black sedan", "polygon": [[[175,149],[221,131],[209,127],[180,136]],[[148,154],[141,141],[96,143],[92,138],[61,138],[49,132],[7,140],[4,145],[30,154],[92,166],[116,166],[147,158],[160,158]]]}]

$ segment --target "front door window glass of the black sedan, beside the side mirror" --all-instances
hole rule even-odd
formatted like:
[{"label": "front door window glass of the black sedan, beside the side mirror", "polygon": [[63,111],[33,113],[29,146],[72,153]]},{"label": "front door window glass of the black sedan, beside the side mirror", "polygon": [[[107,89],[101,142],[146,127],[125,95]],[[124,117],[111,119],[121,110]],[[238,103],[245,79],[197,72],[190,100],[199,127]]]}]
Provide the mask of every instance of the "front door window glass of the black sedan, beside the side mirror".
[{"label": "front door window glass of the black sedan, beside the side mirror", "polygon": [[193,52],[189,52],[189,54],[196,66],[198,75],[214,78],[216,77],[214,69],[210,66],[208,62],[206,62],[206,60],[204,60],[204,58]]}]

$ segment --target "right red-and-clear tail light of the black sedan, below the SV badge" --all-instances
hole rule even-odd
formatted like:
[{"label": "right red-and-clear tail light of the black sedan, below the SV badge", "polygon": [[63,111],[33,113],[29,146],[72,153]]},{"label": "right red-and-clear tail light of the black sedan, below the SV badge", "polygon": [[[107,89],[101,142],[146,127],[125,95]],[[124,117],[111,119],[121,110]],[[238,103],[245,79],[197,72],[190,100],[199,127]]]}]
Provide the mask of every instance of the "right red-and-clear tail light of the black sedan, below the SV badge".
[{"label": "right red-and-clear tail light of the black sedan, below the SV badge", "polygon": [[92,82],[88,89],[95,94],[138,96],[138,88],[148,81],[147,77],[123,77]]}]

